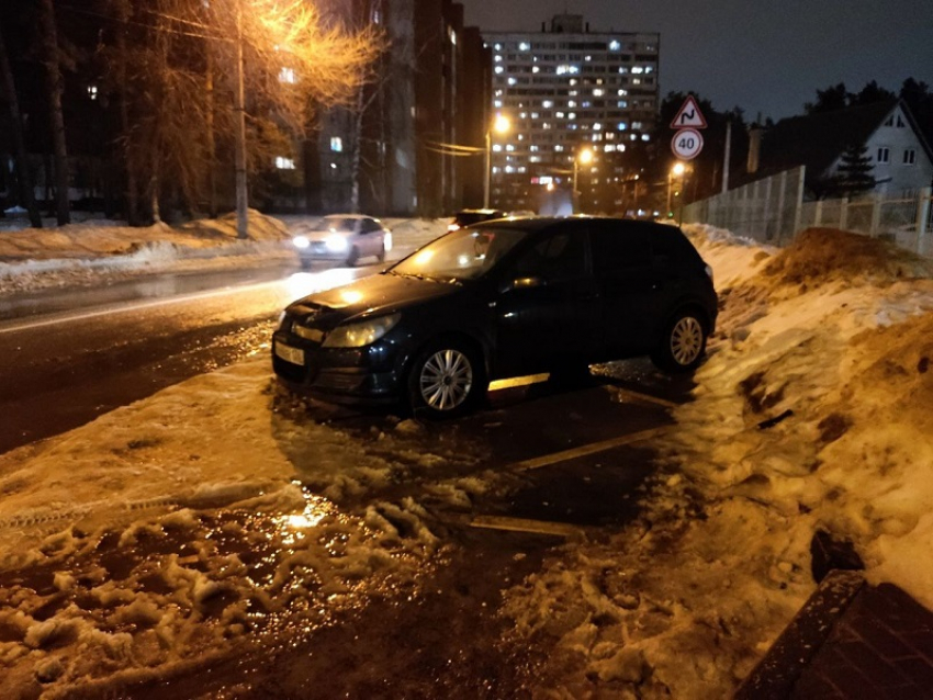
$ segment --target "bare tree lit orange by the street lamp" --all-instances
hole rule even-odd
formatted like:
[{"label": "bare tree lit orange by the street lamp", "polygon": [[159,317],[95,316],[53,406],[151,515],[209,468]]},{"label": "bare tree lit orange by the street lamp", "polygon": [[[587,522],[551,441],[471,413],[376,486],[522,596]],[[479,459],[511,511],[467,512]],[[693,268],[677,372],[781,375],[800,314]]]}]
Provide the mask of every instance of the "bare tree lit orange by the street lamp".
[{"label": "bare tree lit orange by the street lamp", "polygon": [[[126,21],[126,0],[101,1]],[[140,188],[149,183],[154,216],[167,179],[189,208],[206,202],[213,213],[214,193],[231,180],[214,182],[218,160],[238,154],[238,235],[246,236],[247,172],[271,171],[276,156],[293,154],[313,105],[351,101],[380,37],[370,29],[348,32],[305,0],[151,0],[134,8],[134,41],[110,41],[104,53],[122,56],[103,61],[111,90],[127,98],[127,170]],[[125,81],[115,66],[125,67]]]}]

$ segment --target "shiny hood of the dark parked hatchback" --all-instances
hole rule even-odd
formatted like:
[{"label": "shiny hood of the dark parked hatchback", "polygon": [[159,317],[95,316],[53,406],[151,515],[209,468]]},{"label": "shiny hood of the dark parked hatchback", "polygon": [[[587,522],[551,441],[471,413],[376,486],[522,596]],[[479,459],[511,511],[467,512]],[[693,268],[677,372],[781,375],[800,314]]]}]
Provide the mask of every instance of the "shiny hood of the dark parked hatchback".
[{"label": "shiny hood of the dark parked hatchback", "polygon": [[431,280],[374,274],[350,284],[317,292],[293,302],[289,315],[304,325],[329,329],[355,317],[391,314],[434,298],[456,294],[462,287]]}]

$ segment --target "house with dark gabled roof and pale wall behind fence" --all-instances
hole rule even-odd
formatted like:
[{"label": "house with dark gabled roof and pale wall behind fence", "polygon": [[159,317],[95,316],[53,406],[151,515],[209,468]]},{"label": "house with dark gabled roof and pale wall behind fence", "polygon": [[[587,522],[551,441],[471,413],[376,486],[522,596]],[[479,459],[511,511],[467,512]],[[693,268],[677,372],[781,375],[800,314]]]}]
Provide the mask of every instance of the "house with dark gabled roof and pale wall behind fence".
[{"label": "house with dark gabled roof and pale wall behind fence", "polygon": [[756,177],[807,167],[810,196],[823,196],[846,151],[865,147],[877,194],[915,192],[933,183],[933,150],[902,100],[782,120],[752,134],[749,171]]}]

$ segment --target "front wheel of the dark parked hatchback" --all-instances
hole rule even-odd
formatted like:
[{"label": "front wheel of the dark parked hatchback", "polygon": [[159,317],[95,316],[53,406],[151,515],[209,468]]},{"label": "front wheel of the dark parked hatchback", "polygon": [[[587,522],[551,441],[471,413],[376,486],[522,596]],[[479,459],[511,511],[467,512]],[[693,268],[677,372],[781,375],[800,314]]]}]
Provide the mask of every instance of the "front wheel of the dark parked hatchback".
[{"label": "front wheel of the dark parked hatchback", "polygon": [[458,338],[431,342],[408,370],[408,403],[415,417],[457,418],[475,409],[487,388],[482,354]]}]

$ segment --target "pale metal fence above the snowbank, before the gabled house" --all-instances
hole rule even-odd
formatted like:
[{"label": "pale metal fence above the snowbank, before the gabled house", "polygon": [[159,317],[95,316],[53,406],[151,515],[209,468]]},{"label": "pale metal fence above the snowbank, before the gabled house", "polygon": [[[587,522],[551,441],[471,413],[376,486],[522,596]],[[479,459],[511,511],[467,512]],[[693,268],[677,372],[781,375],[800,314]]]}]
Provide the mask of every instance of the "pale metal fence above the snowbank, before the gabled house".
[{"label": "pale metal fence above the snowbank, before the gabled house", "polygon": [[933,257],[931,189],[900,195],[803,201],[802,167],[684,206],[684,223],[709,224],[774,246],[827,226],[884,238]]}]

